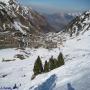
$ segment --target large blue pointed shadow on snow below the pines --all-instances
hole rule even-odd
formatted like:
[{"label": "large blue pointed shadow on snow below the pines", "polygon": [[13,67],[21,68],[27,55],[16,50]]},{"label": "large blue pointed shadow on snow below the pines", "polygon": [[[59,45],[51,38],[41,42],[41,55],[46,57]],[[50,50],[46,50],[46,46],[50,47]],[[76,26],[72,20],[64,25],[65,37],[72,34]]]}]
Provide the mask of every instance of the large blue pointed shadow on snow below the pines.
[{"label": "large blue pointed shadow on snow below the pines", "polygon": [[56,75],[52,75],[43,84],[35,88],[35,90],[52,90],[56,86]]}]

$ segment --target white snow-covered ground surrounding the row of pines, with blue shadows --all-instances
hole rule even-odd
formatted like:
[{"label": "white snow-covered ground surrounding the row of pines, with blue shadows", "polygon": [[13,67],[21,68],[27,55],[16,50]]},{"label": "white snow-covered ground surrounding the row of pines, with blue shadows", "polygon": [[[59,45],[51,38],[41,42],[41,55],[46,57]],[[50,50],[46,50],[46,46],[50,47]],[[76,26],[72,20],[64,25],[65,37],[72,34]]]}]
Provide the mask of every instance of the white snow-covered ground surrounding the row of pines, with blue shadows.
[{"label": "white snow-covered ground surrounding the row of pines, with blue shadows", "polygon": [[[90,30],[74,39],[68,39],[59,49],[2,49],[0,60],[15,59],[11,62],[0,62],[0,87],[15,90],[90,90]],[[42,62],[52,55],[57,57],[63,52],[65,65],[49,73],[38,75],[31,80],[33,65],[38,55]],[[14,56],[22,54],[25,60]],[[13,89],[12,89],[13,90]]]}]

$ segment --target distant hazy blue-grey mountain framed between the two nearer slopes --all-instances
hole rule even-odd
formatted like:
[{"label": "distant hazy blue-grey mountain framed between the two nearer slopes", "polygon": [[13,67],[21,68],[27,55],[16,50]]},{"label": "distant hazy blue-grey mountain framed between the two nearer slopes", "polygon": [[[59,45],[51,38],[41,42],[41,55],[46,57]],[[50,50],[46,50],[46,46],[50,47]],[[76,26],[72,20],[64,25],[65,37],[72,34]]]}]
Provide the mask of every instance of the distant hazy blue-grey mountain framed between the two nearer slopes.
[{"label": "distant hazy blue-grey mountain framed between the two nearer slopes", "polygon": [[62,31],[64,27],[76,17],[63,12],[43,14],[43,16],[47,19],[48,23],[55,29],[56,32]]}]

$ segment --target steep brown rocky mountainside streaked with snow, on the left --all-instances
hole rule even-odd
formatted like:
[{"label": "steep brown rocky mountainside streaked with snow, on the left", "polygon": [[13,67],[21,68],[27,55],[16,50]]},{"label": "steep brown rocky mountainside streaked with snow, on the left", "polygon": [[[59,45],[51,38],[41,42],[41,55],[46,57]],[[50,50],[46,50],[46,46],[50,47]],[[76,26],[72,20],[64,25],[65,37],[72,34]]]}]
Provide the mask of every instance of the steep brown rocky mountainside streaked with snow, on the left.
[{"label": "steep brown rocky mountainside streaked with snow, on the left", "polygon": [[25,43],[26,38],[33,34],[50,31],[53,31],[53,28],[36,11],[18,4],[16,0],[0,0],[1,47],[20,46],[20,42]]}]

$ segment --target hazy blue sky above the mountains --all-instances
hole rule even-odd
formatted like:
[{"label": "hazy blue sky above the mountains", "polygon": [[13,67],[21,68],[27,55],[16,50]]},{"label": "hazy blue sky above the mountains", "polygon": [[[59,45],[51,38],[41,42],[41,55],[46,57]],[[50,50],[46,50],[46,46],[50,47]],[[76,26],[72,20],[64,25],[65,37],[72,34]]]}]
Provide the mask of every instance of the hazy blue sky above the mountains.
[{"label": "hazy blue sky above the mountains", "polygon": [[90,9],[90,0],[19,0],[24,5],[44,12],[85,11]]}]

